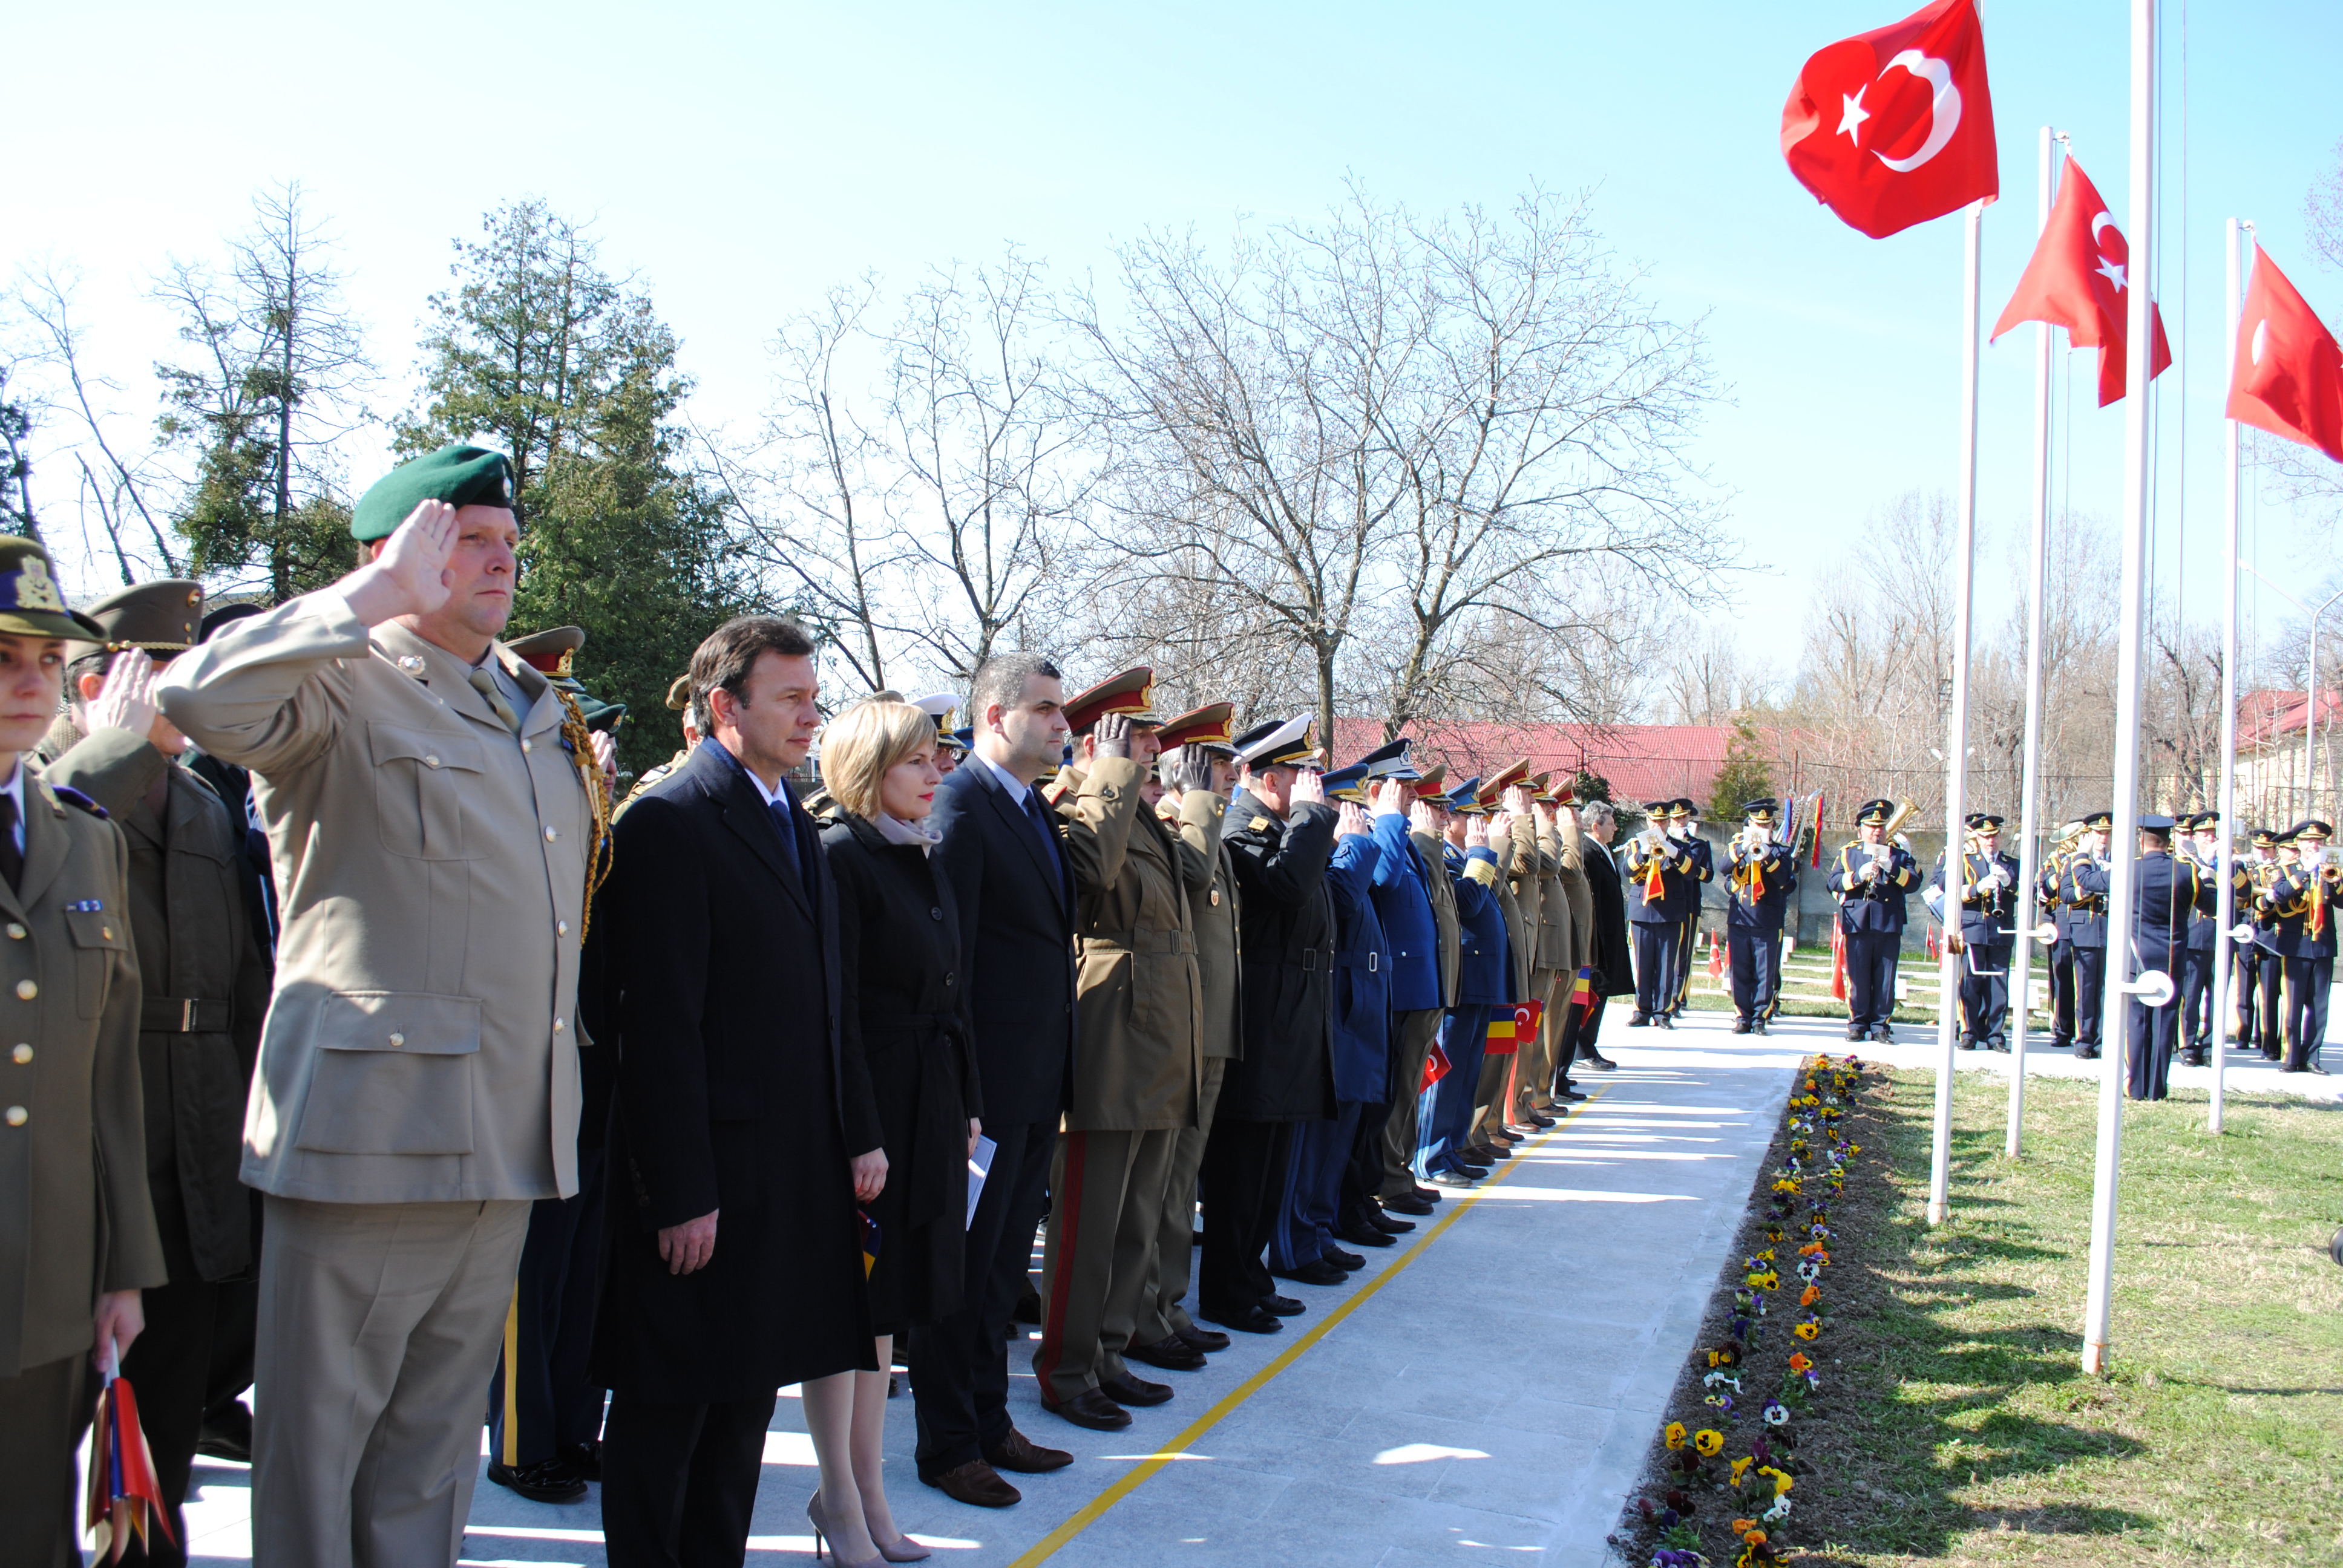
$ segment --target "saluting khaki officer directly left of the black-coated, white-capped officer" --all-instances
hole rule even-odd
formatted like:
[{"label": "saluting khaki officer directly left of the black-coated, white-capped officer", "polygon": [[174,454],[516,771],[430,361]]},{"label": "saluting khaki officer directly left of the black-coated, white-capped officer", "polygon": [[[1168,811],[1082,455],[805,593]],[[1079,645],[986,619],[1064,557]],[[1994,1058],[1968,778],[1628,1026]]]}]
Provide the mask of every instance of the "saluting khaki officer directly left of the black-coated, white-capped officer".
[{"label": "saluting khaki officer directly left of the black-coated, white-capped officer", "polygon": [[[1244,1055],[1244,1015],[1237,996],[1237,870],[1221,844],[1221,816],[1228,811],[1228,788],[1237,778],[1237,748],[1228,743],[1235,703],[1207,703],[1167,720],[1155,731],[1162,748],[1162,771],[1167,792],[1155,802],[1155,816],[1164,827],[1197,855],[1209,860],[1211,872],[1202,888],[1188,888],[1188,914],[1195,930],[1195,973],[1204,994],[1204,1010],[1197,1024],[1197,1090],[1195,1125],[1179,1130],[1172,1151],[1172,1177],[1164,1184],[1162,1228],[1155,1233],[1155,1280],[1141,1308],[1132,1338],[1153,1345],[1143,1357],[1150,1364],[1186,1359],[1179,1348],[1197,1357],[1211,1350],[1228,1350],[1228,1336],[1207,1329],[1188,1313],[1188,1284],[1195,1275],[1195,1179],[1204,1167],[1204,1144],[1211,1139],[1211,1111],[1221,1102],[1221,1078],[1228,1064]],[[1204,799],[1195,799],[1202,795]],[[1197,1362],[1202,1364],[1202,1362]]]}]

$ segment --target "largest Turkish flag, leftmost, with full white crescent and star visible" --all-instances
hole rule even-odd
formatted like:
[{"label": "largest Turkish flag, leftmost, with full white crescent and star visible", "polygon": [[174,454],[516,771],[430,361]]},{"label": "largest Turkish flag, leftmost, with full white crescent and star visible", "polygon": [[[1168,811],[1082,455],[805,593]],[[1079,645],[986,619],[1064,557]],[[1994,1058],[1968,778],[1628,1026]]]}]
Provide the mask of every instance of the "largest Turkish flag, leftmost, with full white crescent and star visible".
[{"label": "largest Turkish flag, leftmost, with full white crescent and star visible", "polygon": [[1781,155],[1872,239],[1999,197],[1975,0],[1935,0],[1809,59],[1781,110]]}]

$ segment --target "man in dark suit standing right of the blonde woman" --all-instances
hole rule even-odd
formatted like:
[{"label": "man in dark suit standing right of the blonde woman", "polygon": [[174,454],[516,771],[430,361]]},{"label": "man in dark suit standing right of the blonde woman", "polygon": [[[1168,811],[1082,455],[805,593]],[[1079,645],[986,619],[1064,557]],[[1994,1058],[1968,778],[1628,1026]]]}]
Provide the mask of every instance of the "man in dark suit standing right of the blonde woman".
[{"label": "man in dark suit standing right of the blonde woman", "polygon": [[1010,1420],[1003,1334],[1040,1223],[1073,1071],[1073,865],[1033,788],[1066,748],[1066,684],[1038,654],[996,654],[968,696],[968,762],[935,790],[937,858],[961,902],[993,1163],[968,1226],[961,1310],[911,1331],[918,1479],[977,1507],[1019,1500],[1003,1470],[1071,1465]]}]

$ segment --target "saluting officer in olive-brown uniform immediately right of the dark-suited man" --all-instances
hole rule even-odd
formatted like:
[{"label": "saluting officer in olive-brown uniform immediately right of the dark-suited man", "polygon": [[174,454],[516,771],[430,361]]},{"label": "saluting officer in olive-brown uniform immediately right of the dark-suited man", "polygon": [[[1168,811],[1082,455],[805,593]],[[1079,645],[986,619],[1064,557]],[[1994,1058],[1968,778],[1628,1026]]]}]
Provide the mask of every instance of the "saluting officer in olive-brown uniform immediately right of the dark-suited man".
[{"label": "saluting officer in olive-brown uniform immediately right of the dark-suited man", "polygon": [[[1125,1406],[1172,1397],[1125,1355],[1202,1364],[1179,1341],[1132,1343],[1172,1155],[1197,1120],[1204,989],[1188,888],[1211,877],[1211,860],[1141,795],[1157,752],[1157,724],[1143,717],[1150,684],[1148,670],[1125,670],[1066,698],[1085,762],[1050,790],[1073,860],[1078,966],[1073,1104],[1050,1167],[1033,1376],[1043,1409],[1101,1432],[1132,1423]],[[1209,806],[1197,802],[1200,827],[1218,827]]]}]

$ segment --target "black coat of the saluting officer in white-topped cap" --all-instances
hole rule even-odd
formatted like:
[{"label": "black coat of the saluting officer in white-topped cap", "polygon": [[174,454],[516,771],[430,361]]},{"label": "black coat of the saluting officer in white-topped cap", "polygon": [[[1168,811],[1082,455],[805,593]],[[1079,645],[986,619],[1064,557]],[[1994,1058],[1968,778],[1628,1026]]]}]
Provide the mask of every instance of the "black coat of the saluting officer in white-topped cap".
[{"label": "black coat of the saluting officer in white-topped cap", "polygon": [[1333,806],[1296,806],[1289,820],[1239,792],[1228,844],[1244,891],[1244,1059],[1228,1064],[1214,1116],[1303,1123],[1336,1116],[1333,1064]]}]

